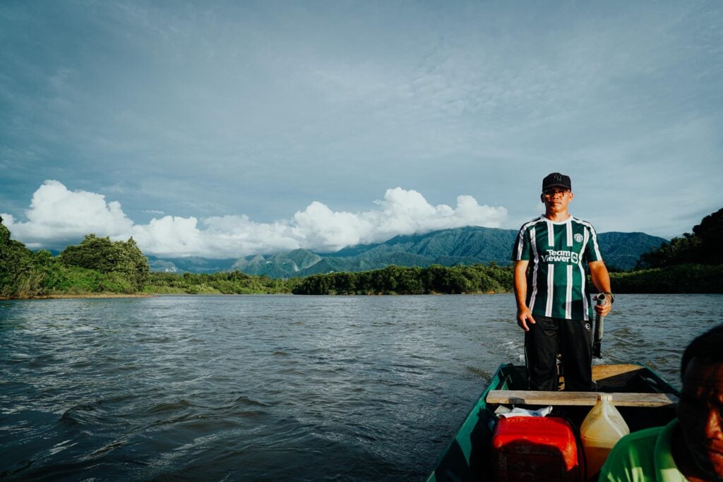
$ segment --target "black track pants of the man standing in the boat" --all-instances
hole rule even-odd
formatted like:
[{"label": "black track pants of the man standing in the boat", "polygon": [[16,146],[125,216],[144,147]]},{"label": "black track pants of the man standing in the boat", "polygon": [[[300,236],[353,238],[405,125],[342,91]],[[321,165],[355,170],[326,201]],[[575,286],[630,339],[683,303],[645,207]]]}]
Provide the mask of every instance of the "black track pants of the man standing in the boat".
[{"label": "black track pants of the man standing in the boat", "polygon": [[592,390],[591,322],[535,316],[525,332],[530,390],[557,390],[557,353],[562,354],[565,390]]}]

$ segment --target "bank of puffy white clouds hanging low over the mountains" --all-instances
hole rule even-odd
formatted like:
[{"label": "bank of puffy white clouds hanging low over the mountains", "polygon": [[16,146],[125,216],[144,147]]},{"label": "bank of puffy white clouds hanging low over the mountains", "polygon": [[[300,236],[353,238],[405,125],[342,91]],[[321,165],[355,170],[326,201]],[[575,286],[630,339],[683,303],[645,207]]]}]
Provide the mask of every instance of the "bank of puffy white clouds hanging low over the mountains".
[{"label": "bank of puffy white clouds hanging low over the mountains", "polygon": [[164,215],[136,224],[116,201],[103,194],[71,191],[48,180],[35,191],[27,221],[2,214],[13,238],[30,248],[62,247],[88,233],[127,239],[132,236],[146,254],[161,257],[241,257],[304,248],[337,251],[346,246],[385,241],[400,234],[427,233],[463,226],[499,227],[505,207],[479,205],[474,197],[457,197],[455,207],[430,205],[424,196],[401,187],[364,212],[334,211],[312,202],[291,219],[256,223],[247,215],[203,218]]}]

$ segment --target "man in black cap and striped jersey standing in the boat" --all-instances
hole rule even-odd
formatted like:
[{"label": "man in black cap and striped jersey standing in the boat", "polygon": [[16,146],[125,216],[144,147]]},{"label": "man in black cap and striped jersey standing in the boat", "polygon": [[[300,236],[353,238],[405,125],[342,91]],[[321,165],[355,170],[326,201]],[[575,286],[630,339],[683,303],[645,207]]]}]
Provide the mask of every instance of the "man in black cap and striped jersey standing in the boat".
[{"label": "man in black cap and striped jersey standing in the boat", "polygon": [[610,277],[595,229],[573,218],[570,177],[551,173],[542,180],[544,215],[520,228],[512,260],[517,322],[525,330],[530,390],[557,390],[557,353],[562,353],[565,390],[592,389],[592,283],[606,303],[594,306],[604,316],[612,306]]}]

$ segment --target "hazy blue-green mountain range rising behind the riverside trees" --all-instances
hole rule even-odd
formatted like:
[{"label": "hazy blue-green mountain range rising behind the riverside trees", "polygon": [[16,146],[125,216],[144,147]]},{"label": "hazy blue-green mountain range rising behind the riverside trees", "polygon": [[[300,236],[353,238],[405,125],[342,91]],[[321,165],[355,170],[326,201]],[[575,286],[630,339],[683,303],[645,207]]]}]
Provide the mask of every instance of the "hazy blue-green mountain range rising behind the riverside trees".
[{"label": "hazy blue-green mountain range rising behind the riverside trees", "polygon": [[[294,249],[239,259],[158,258],[149,256],[154,272],[219,272],[239,270],[269,277],[308,276],[340,271],[377,270],[390,264],[426,267],[496,262],[510,264],[516,230],[466,227],[411,236],[395,236],[378,244],[348,247],[334,253]],[[599,233],[598,242],[609,267],[629,270],[641,254],[657,249],[664,238],[646,233]]]}]

